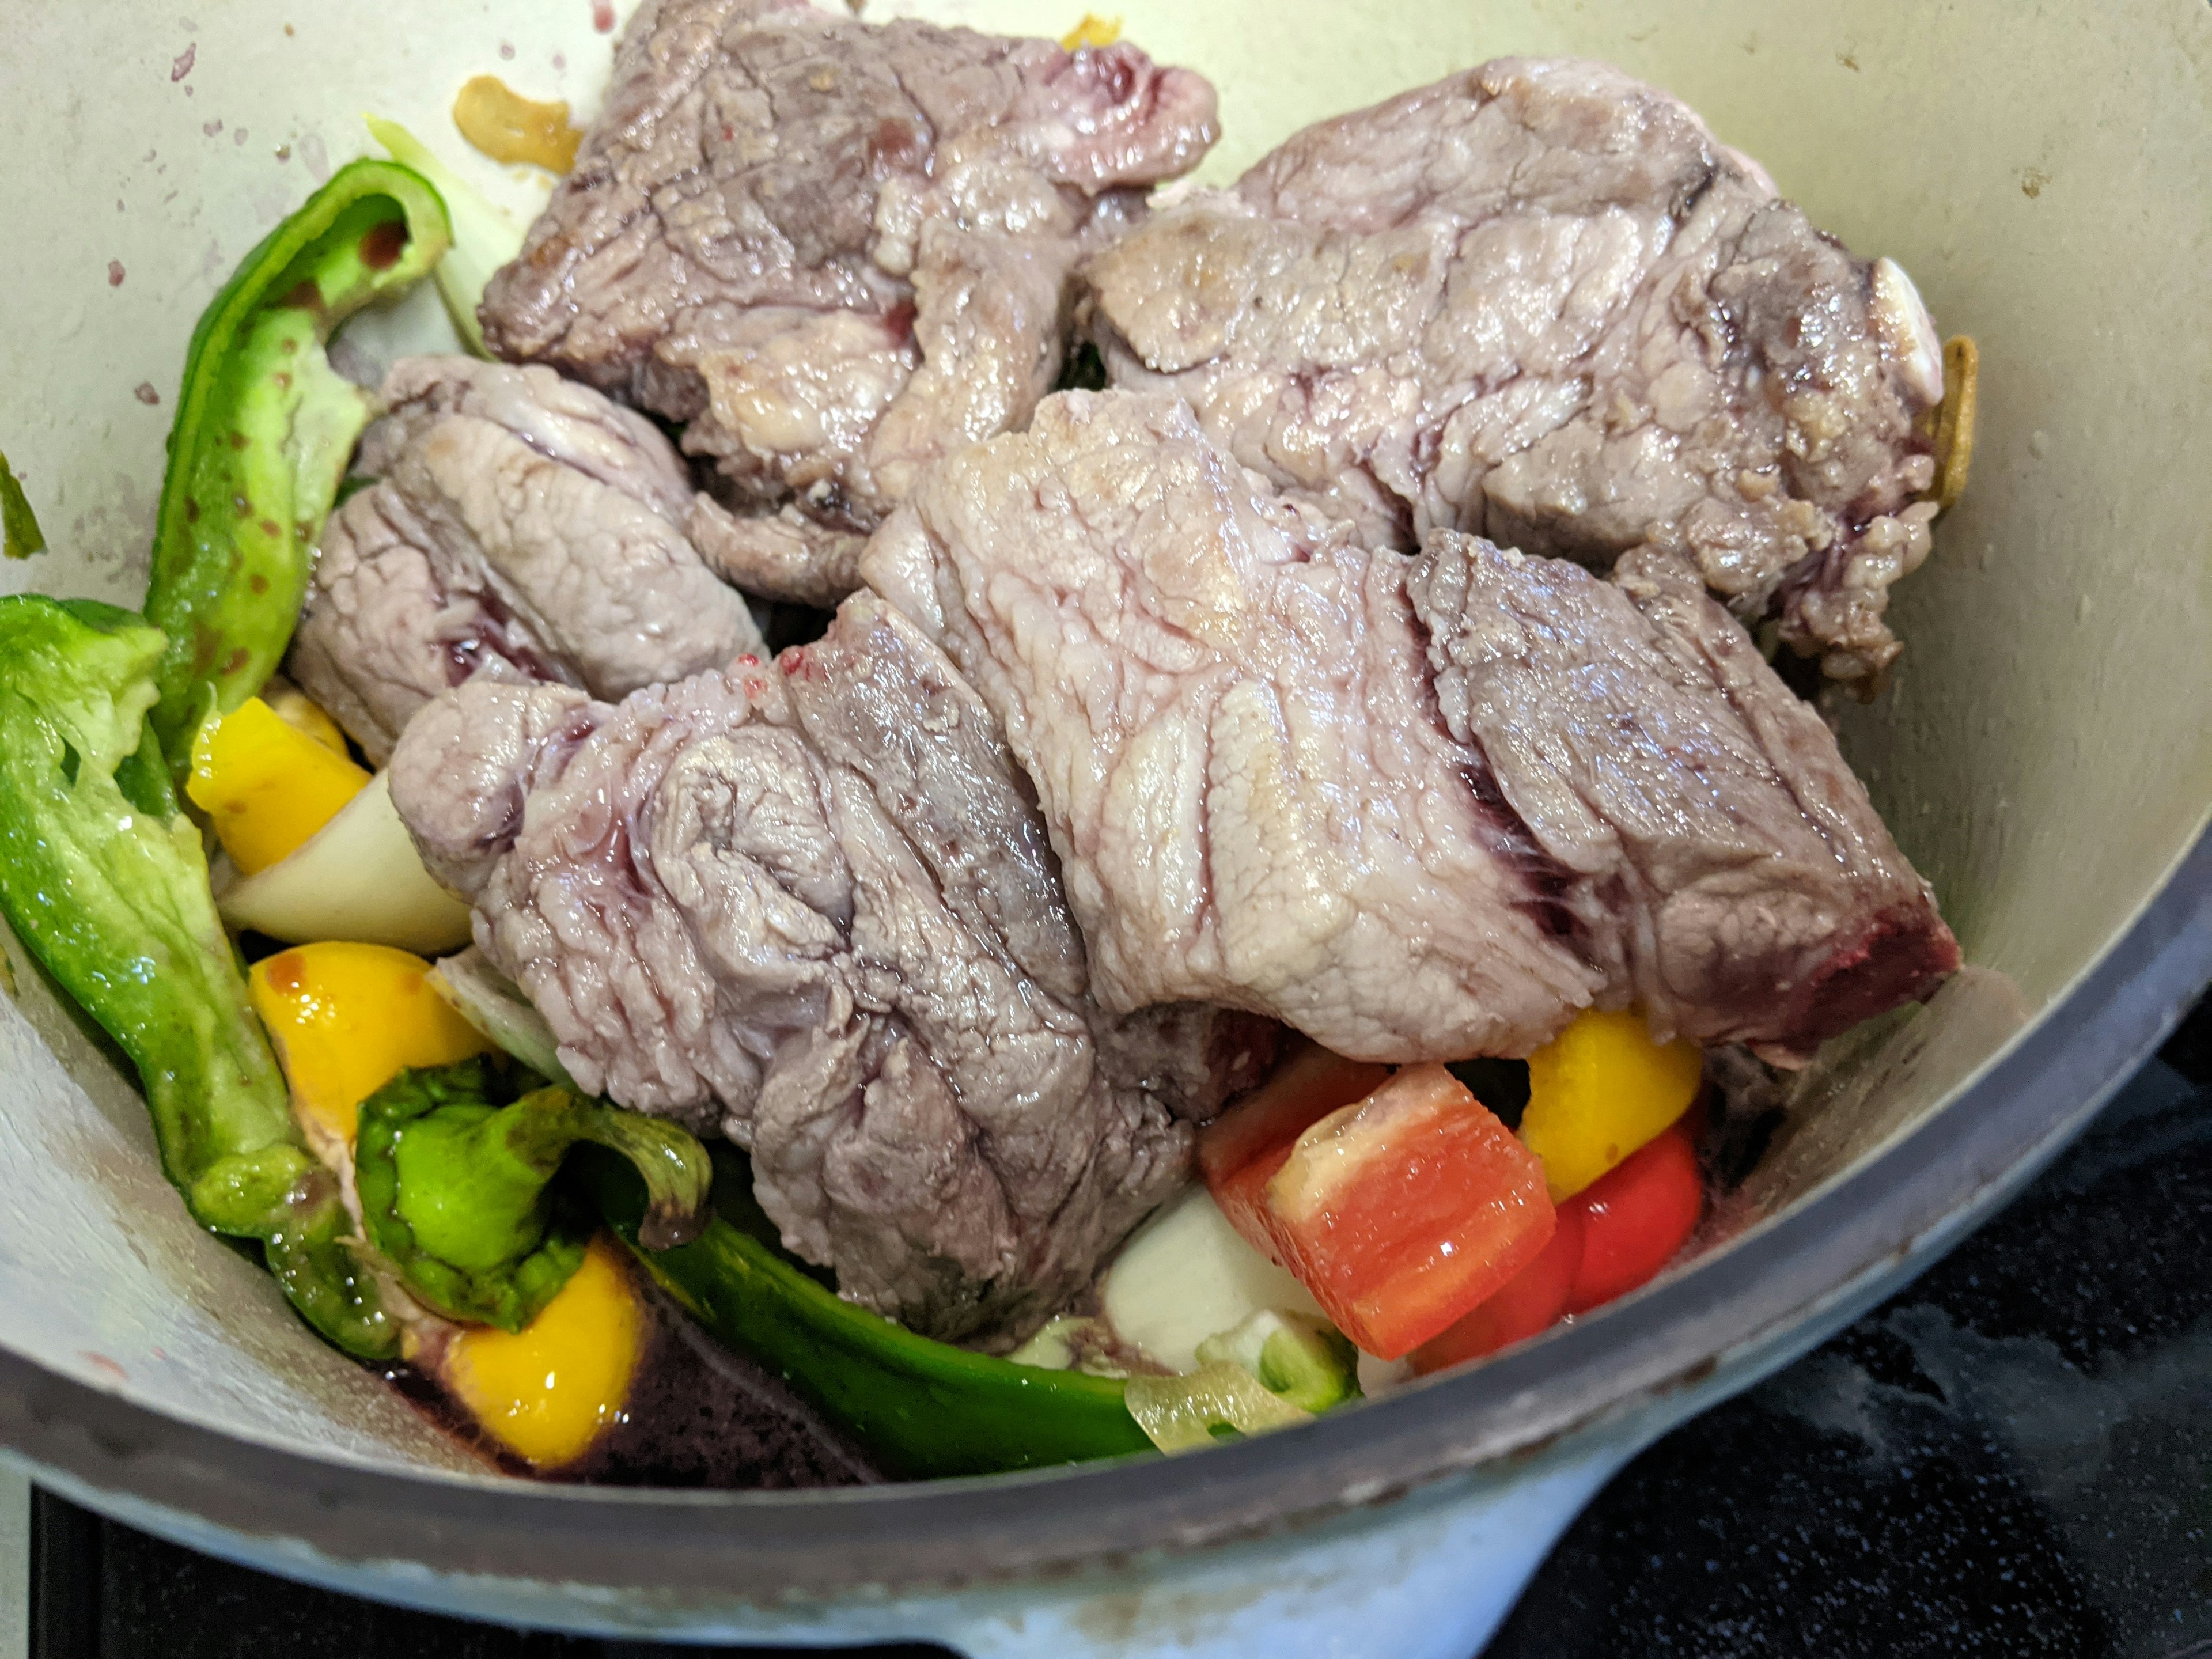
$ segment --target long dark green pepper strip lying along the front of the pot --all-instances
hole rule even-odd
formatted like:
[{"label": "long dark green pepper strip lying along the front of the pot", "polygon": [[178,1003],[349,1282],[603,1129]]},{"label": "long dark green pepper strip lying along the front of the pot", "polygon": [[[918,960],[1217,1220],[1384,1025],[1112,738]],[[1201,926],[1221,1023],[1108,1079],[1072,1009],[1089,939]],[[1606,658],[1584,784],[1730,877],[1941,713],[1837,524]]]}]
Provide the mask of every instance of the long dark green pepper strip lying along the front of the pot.
[{"label": "long dark green pepper strip lying along the front of the pot", "polygon": [[[655,1283],[721,1343],[781,1376],[902,1480],[1040,1469],[1150,1451],[1121,1380],[1013,1365],[931,1343],[785,1256],[752,1199],[745,1157],[714,1146],[714,1219],[677,1250],[637,1250]],[[644,1192],[615,1159],[577,1170],[615,1234],[637,1245]]]}]

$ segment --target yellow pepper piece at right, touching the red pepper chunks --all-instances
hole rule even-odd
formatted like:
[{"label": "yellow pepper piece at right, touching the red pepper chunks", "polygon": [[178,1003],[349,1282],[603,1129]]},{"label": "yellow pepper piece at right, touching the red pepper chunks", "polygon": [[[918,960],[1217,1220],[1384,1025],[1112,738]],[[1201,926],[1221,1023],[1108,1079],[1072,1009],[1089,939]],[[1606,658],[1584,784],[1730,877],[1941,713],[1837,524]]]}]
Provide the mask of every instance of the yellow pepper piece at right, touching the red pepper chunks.
[{"label": "yellow pepper piece at right, touching the red pepper chunks", "polygon": [[1566,1203],[1690,1110],[1703,1064],[1694,1042],[1652,1042],[1644,1015],[1597,1009],[1528,1055],[1520,1135],[1544,1159],[1551,1201]]}]

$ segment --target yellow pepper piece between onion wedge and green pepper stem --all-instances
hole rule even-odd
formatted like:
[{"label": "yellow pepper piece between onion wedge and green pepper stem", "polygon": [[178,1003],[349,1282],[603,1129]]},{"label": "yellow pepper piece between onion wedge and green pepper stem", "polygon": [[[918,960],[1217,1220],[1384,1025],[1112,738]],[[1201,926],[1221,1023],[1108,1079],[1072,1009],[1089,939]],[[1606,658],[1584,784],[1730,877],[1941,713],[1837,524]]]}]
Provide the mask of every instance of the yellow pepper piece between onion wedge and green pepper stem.
[{"label": "yellow pepper piece between onion wedge and green pepper stem", "polygon": [[299,945],[254,962],[254,1013],[276,1044],[292,1115],[310,1137],[354,1144],[354,1117],[405,1066],[451,1066],[491,1044],[389,945]]}]

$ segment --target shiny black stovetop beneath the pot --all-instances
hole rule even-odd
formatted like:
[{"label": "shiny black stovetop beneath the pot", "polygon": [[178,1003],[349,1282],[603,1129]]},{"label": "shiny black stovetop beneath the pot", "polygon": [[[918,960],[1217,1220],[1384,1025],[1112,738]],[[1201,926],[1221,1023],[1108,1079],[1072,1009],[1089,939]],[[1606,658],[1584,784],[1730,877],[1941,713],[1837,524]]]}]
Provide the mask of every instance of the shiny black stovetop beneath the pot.
[{"label": "shiny black stovetop beneath the pot", "polygon": [[[1489,1659],[2212,1657],[2208,1243],[2199,1004],[1958,1252],[1621,1471]],[[35,1500],[31,1659],[429,1652],[703,1650],[398,1613]]]}]

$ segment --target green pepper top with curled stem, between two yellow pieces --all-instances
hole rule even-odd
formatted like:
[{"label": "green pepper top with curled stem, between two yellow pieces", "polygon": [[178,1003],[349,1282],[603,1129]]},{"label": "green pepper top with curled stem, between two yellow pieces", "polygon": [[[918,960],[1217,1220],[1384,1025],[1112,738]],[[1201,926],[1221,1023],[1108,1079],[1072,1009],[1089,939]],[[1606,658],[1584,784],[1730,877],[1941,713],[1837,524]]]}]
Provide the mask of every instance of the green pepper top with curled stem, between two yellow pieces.
[{"label": "green pepper top with curled stem, between two yellow pieces", "polygon": [[361,1102],[361,1225],[422,1303],[520,1332],[553,1301],[595,1228],[553,1183],[580,1141],[619,1152],[644,1179],[637,1239],[648,1250],[703,1225],[710,1164],[681,1124],[557,1084],[507,1104],[498,1084],[491,1066],[469,1060],[403,1071]]}]

